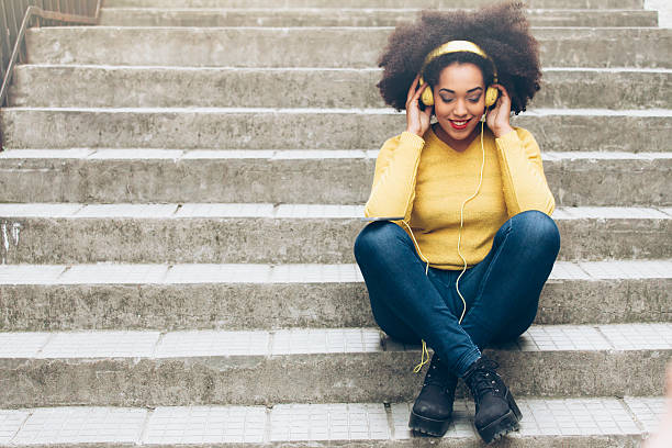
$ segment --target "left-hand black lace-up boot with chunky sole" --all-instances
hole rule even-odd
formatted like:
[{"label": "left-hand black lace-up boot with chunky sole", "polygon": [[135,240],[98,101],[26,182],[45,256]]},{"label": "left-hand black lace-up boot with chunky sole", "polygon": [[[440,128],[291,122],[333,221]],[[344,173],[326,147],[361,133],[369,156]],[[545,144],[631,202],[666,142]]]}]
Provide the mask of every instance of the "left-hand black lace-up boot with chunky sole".
[{"label": "left-hand black lace-up boot with chunky sole", "polygon": [[457,376],[443,366],[435,354],[425,374],[423,390],[413,404],[408,427],[429,436],[446,434],[451,422],[457,382]]}]

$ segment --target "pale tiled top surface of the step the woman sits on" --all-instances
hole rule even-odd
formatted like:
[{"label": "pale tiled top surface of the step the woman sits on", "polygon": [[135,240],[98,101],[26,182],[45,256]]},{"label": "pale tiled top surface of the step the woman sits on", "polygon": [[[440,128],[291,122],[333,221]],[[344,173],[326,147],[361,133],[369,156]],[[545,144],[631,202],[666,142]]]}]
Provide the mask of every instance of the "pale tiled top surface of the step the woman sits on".
[{"label": "pale tiled top surface of the step the woman sits on", "polygon": [[[277,357],[421,351],[378,328],[0,333],[0,359]],[[672,350],[672,323],[533,325],[504,351]]]}]

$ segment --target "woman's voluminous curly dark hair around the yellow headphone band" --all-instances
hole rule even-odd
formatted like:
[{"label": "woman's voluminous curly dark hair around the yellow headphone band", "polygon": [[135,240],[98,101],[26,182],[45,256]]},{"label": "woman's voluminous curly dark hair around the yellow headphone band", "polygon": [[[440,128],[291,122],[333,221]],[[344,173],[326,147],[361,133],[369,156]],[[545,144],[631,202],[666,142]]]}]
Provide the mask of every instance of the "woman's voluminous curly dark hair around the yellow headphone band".
[{"label": "woman's voluminous curly dark hair around the yellow headphone band", "polygon": [[[385,103],[397,111],[405,109],[408,88],[427,54],[448,41],[471,41],[494,61],[499,82],[511,97],[512,112],[525,111],[539,90],[541,68],[539,44],[530,34],[523,8],[522,1],[507,1],[478,11],[427,10],[414,23],[397,26],[378,61],[383,75],[377,86]],[[427,83],[434,87],[440,71],[455,61],[475,64],[485,85],[492,82],[490,63],[460,52],[434,59],[423,74]]]}]

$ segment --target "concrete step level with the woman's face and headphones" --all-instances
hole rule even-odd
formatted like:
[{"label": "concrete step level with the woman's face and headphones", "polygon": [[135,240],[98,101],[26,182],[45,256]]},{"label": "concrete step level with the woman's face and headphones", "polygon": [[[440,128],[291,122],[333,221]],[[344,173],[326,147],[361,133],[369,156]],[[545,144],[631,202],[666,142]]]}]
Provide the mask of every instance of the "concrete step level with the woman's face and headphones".
[{"label": "concrete step level with the woman's face and headphones", "polygon": [[[376,87],[380,77],[379,69],[366,68],[23,65],[14,70],[9,103],[37,108],[384,108]],[[670,69],[549,68],[542,79],[533,108],[672,109],[667,94],[672,89]],[[119,94],[121,91],[125,93]],[[283,94],[277,94],[279,91]]]}]

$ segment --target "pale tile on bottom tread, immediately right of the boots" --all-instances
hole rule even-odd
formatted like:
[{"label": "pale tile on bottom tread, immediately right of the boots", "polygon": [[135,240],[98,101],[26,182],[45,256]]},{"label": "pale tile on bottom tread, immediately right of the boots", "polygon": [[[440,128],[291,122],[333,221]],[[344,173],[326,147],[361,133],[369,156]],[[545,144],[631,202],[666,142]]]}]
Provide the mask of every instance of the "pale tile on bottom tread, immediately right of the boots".
[{"label": "pale tile on bottom tread, immediately right of the boots", "polygon": [[520,436],[639,434],[616,399],[516,401],[523,413]]}]

